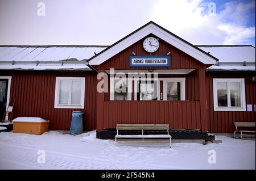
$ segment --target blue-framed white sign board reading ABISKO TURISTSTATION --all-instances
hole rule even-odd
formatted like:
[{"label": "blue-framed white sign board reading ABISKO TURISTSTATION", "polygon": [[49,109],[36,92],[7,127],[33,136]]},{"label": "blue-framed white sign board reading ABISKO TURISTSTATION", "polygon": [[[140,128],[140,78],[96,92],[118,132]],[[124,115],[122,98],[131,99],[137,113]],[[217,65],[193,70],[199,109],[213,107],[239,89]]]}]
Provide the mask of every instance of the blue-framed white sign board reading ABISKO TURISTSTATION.
[{"label": "blue-framed white sign board reading ABISKO TURISTSTATION", "polygon": [[170,56],[130,56],[130,67],[170,67]]}]

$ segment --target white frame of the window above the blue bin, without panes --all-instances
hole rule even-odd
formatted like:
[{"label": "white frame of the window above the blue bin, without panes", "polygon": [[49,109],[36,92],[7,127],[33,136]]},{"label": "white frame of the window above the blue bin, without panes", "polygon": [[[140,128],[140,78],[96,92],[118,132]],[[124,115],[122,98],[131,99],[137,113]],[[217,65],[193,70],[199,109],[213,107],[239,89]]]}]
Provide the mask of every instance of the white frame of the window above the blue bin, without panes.
[{"label": "white frame of the window above the blue bin, without panes", "polygon": [[[60,91],[60,81],[69,81],[69,99],[68,102],[71,103],[71,81],[81,81],[81,97],[80,97],[80,104],[59,104],[59,91]],[[56,77],[55,83],[55,103],[54,108],[79,108],[84,109],[84,95],[85,94],[85,77]]]}]

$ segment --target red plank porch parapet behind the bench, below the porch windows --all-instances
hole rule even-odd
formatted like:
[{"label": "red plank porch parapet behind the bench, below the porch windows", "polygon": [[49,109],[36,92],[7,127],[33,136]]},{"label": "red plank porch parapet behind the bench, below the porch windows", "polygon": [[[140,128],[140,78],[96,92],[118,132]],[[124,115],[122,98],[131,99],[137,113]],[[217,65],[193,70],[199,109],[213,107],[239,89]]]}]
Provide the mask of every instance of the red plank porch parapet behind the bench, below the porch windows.
[{"label": "red plank porch parapet behind the bench, below the porch windows", "polygon": [[117,123],[169,123],[171,129],[201,129],[200,101],[105,101],[103,128]]}]

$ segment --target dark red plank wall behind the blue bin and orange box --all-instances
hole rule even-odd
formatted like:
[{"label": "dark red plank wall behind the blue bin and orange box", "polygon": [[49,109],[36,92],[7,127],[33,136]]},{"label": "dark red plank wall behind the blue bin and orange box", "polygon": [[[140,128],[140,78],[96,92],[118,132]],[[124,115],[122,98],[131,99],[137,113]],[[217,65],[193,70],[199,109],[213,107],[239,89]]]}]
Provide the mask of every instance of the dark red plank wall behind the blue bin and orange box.
[{"label": "dark red plank wall behind the blue bin and orange box", "polygon": [[[12,76],[14,117],[32,116],[50,120],[49,129],[69,130],[72,111],[85,112],[84,127],[96,129],[96,74],[73,71],[1,71]],[[56,77],[85,77],[84,109],[54,108]]]}]

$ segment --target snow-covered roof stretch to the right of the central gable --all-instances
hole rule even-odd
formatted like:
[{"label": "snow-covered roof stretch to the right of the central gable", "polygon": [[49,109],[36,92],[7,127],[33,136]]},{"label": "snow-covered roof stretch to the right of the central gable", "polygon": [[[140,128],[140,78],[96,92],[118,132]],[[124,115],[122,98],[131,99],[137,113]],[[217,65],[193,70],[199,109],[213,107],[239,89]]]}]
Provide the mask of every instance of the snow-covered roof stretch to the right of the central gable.
[{"label": "snow-covered roof stretch to the right of the central gable", "polygon": [[219,60],[208,70],[255,71],[255,47],[251,45],[197,45]]}]

